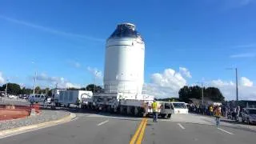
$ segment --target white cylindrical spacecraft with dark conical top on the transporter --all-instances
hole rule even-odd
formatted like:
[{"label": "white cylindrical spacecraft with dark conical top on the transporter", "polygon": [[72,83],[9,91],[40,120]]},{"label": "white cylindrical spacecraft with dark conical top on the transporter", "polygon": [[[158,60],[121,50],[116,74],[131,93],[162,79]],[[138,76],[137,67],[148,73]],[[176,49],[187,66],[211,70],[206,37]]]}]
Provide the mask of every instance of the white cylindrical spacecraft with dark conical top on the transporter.
[{"label": "white cylindrical spacecraft with dark conical top on the transporter", "polygon": [[106,41],[106,93],[142,94],[145,44],[131,23],[118,24]]}]

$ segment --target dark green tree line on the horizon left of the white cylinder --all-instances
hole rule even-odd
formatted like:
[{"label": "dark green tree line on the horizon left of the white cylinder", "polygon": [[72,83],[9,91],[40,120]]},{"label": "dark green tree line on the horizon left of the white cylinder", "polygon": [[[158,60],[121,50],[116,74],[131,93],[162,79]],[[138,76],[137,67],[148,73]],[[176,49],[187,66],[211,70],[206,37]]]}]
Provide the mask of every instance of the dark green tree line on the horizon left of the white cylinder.
[{"label": "dark green tree line on the horizon left of the white cylinder", "polygon": [[[6,90],[6,84],[0,86],[0,91],[5,91]],[[51,96],[51,90],[49,87],[46,87],[42,89],[40,86],[36,86],[34,89],[34,94],[46,94],[48,96]],[[80,89],[70,87],[67,90],[89,90],[93,92],[102,92],[102,87],[101,86],[96,86],[94,84],[89,84],[86,87],[82,87]],[[7,84],[7,94],[13,94],[13,95],[18,95],[18,94],[33,94],[33,89],[26,88],[26,87],[21,87],[17,83],[8,83]]]}]

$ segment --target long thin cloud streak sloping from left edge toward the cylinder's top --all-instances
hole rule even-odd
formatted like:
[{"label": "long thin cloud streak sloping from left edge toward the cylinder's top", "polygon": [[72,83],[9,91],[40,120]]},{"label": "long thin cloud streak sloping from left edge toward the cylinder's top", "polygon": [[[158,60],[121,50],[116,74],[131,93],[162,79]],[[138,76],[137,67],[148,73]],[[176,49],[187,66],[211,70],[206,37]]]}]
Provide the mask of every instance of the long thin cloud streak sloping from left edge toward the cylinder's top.
[{"label": "long thin cloud streak sloping from left edge toward the cylinder's top", "polygon": [[72,33],[67,33],[65,31],[61,31],[61,30],[54,30],[54,29],[48,28],[46,26],[36,25],[34,23],[31,23],[31,22],[25,22],[25,21],[21,21],[21,20],[18,20],[18,19],[14,19],[14,18],[9,18],[9,17],[3,16],[3,15],[0,15],[0,18],[6,20],[8,22],[17,23],[17,24],[20,24],[20,25],[23,25],[23,26],[29,26],[29,27],[32,27],[34,29],[43,30],[43,31],[46,31],[46,32],[51,33],[51,34],[58,34],[58,35],[62,35],[62,36],[72,37],[72,38],[82,38],[82,39],[86,39],[86,40],[90,40],[90,41],[96,41],[96,42],[105,42],[105,39],[102,39],[102,38],[94,38],[94,37],[91,37],[91,36],[88,36],[88,35],[72,34]]}]

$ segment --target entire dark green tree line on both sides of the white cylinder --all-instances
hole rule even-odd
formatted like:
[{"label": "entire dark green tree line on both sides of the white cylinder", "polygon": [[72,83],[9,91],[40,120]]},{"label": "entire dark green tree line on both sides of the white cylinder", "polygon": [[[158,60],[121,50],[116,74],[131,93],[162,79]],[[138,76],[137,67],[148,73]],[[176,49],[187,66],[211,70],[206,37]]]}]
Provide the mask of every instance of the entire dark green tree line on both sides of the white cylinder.
[{"label": "entire dark green tree line on both sides of the white cylinder", "polygon": [[[158,100],[170,101],[170,102],[173,102],[173,101],[190,102],[190,98],[197,98],[197,99],[202,98],[202,89],[203,89],[204,98],[209,98],[212,101],[219,101],[219,102],[222,102],[225,99],[223,97],[221,91],[218,90],[218,88],[216,88],[216,87],[207,87],[207,88],[203,87],[202,88],[200,86],[183,86],[178,91],[179,98],[162,98],[162,99],[158,99]],[[5,91],[5,90],[6,90],[6,84],[0,86],[0,91]],[[53,89],[51,89],[51,90],[53,90]],[[42,89],[40,86],[36,86],[36,88],[34,89],[34,93],[35,94],[46,94],[46,95],[51,96],[52,95],[51,90],[48,87],[45,89]],[[70,87],[67,90],[89,90],[89,91],[93,91],[95,93],[103,91],[101,86],[96,86],[94,84],[89,84],[88,86],[82,87],[79,89]],[[14,94],[14,95],[33,94],[33,89],[21,87],[17,83],[8,83],[7,94]]]}]

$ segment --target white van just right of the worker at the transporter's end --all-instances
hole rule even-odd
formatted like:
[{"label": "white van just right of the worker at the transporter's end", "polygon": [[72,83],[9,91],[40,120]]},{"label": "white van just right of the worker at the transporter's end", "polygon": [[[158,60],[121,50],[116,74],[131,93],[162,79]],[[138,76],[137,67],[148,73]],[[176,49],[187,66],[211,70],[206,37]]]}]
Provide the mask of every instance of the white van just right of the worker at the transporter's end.
[{"label": "white van just right of the worker at the transporter's end", "polygon": [[188,114],[189,110],[185,102],[170,102],[171,114]]}]

